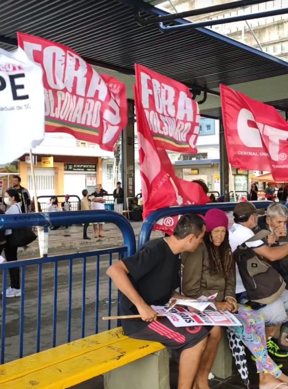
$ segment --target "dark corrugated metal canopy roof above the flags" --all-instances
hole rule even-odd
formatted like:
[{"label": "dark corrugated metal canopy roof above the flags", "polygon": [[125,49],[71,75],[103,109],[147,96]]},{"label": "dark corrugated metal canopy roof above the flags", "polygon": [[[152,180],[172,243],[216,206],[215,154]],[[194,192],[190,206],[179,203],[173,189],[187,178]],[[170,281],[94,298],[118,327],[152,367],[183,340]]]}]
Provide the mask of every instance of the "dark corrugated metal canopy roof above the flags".
[{"label": "dark corrugated metal canopy roof above the flags", "polygon": [[[162,33],[156,25],[139,26],[133,6],[145,17],[167,14],[140,0],[4,0],[0,47],[12,49],[17,31],[65,44],[102,72],[126,82],[129,98],[133,98],[134,63],[141,63],[211,92],[200,106],[207,116],[221,115],[220,99],[215,95],[220,83],[240,91],[243,86],[249,96],[264,102],[280,100],[281,109],[288,110],[288,62],[207,28]],[[255,82],[258,89],[253,97]]]}]

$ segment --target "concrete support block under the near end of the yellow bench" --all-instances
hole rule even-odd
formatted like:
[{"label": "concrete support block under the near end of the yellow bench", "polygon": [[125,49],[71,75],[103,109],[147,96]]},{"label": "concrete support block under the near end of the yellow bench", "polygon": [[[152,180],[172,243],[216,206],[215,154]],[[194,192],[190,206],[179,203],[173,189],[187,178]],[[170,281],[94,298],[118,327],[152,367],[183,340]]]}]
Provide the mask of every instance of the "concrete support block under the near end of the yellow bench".
[{"label": "concrete support block under the near end of the yellow bench", "polygon": [[105,389],[169,389],[169,356],[166,349],[137,359],[104,374]]}]

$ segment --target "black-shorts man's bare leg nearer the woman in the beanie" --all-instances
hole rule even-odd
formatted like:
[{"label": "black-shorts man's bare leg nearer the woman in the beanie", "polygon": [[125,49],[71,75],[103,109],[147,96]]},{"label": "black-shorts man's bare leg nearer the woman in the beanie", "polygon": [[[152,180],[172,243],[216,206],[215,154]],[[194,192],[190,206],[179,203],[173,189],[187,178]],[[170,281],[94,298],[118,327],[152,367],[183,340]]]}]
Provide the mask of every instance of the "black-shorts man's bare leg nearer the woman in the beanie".
[{"label": "black-shorts man's bare leg nearer the woman in the beanie", "polygon": [[215,360],[221,336],[221,327],[211,329],[207,346],[202,354],[198,373],[195,378],[194,389],[209,389],[208,375]]}]

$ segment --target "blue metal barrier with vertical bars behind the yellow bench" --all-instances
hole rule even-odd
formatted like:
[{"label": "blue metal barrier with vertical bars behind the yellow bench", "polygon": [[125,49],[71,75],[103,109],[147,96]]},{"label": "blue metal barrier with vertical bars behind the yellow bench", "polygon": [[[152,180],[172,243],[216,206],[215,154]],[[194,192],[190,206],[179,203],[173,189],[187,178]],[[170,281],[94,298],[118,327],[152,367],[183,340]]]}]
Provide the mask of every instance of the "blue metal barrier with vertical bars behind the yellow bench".
[{"label": "blue metal barrier with vertical bars behind the yellow bench", "polygon": [[[124,245],[0,264],[2,325],[0,362],[33,354],[116,326],[101,317],[117,315],[118,290],[106,269],[136,251],[127,219],[112,211],[75,211],[3,215],[1,229],[110,222],[122,232]],[[9,269],[21,270],[21,297],[7,298]]]}]

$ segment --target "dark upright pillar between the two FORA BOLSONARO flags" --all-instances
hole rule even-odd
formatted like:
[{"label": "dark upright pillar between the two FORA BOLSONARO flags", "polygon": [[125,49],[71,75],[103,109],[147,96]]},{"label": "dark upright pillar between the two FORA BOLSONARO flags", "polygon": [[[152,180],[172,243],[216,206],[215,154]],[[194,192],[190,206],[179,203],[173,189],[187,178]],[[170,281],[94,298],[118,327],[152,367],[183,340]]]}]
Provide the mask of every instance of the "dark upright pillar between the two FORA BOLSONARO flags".
[{"label": "dark upright pillar between the two FORA BOLSONARO flags", "polygon": [[124,188],[126,198],[135,196],[135,159],[134,159],[134,101],[128,100],[128,124],[123,130]]}]

